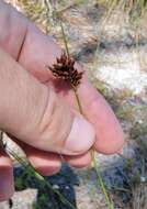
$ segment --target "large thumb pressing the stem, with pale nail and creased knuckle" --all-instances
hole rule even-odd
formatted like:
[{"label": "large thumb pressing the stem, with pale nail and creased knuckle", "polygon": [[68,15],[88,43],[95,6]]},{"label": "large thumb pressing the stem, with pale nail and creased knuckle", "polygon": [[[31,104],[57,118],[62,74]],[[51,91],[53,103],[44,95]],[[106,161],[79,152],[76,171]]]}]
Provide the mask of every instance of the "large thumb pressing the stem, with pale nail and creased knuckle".
[{"label": "large thumb pressing the stem, with pale nail and creased knuckle", "polygon": [[0,129],[44,151],[81,154],[94,130],[80,114],[0,50]]}]

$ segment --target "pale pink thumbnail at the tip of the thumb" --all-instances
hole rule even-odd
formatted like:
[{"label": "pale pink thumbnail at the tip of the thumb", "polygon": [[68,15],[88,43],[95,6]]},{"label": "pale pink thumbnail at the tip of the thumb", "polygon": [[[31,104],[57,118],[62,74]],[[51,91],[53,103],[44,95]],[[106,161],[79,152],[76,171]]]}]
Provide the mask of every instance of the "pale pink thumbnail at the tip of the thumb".
[{"label": "pale pink thumbnail at the tip of the thumb", "polygon": [[66,140],[65,150],[70,154],[82,154],[94,143],[95,132],[91,123],[83,117],[75,118],[71,131]]}]

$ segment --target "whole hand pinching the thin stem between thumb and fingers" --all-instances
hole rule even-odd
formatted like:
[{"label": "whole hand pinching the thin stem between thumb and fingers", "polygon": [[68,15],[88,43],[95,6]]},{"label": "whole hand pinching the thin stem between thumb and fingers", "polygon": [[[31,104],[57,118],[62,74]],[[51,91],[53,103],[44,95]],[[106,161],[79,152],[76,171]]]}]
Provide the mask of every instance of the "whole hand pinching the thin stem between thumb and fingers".
[{"label": "whole hand pinching the thin stem between thumb and fingers", "polygon": [[[45,67],[60,53],[52,37],[0,1],[0,128],[19,139],[43,175],[59,170],[59,154],[71,166],[82,167],[90,164],[91,146],[111,154],[124,143],[113,111],[86,76],[78,94],[88,120],[76,111],[72,91]],[[0,151],[0,200],[13,194],[12,169],[10,157]]]}]

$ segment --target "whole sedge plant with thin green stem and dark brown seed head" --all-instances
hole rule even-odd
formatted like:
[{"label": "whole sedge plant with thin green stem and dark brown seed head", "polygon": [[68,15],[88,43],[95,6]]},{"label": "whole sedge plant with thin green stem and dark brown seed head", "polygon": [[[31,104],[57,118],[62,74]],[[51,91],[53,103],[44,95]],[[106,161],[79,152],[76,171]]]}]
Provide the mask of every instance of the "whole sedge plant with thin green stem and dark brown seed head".
[{"label": "whole sedge plant with thin green stem and dark brown seed head", "polygon": [[[56,12],[56,10],[55,10],[55,12]],[[58,19],[59,24],[60,24],[60,30],[61,30],[61,35],[63,35],[63,40],[65,43],[66,52],[63,52],[60,57],[56,58],[56,63],[53,65],[53,67],[48,66],[48,69],[53,73],[55,78],[61,79],[70,86],[70,88],[72,89],[72,91],[75,94],[75,98],[77,101],[79,112],[84,118],[87,118],[83,110],[82,110],[81,100],[80,100],[79,95],[78,95],[78,87],[81,82],[83,72],[78,72],[76,69],[75,59],[70,56],[70,53],[69,53],[69,47],[68,47],[68,42],[67,42],[64,24],[61,22],[60,15],[58,15],[58,13],[57,13],[57,19]],[[110,199],[110,196],[106,191],[104,182],[102,179],[101,170],[100,170],[100,167],[99,167],[97,158],[95,158],[94,148],[91,148],[91,162],[92,162],[91,166],[94,167],[95,173],[97,173],[98,184],[100,185],[101,190],[105,197],[106,206],[109,209],[114,209],[113,204]]]}]

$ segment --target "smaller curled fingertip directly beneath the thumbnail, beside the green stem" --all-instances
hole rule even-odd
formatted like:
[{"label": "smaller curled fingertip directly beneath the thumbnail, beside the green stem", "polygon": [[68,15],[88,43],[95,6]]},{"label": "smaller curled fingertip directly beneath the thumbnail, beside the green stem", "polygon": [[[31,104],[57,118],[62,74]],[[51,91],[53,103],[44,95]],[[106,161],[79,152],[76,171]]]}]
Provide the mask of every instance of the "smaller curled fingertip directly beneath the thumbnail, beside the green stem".
[{"label": "smaller curled fingertip directly beneath the thumbnail, beside the green stem", "polygon": [[88,167],[91,164],[91,154],[87,152],[78,156],[64,156],[65,161],[76,168]]}]

